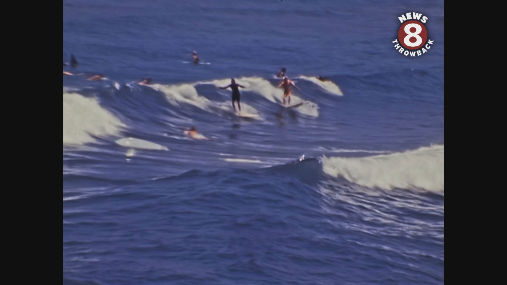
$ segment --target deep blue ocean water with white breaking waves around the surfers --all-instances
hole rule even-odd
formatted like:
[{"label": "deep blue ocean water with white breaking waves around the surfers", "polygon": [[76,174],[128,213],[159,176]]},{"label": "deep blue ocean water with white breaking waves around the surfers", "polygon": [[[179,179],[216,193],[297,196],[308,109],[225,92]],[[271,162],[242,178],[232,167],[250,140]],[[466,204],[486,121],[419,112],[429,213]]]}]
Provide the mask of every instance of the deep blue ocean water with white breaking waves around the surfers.
[{"label": "deep blue ocean water with white breaking waves around the surfers", "polygon": [[64,0],[71,54],[64,284],[443,284],[443,1]]}]

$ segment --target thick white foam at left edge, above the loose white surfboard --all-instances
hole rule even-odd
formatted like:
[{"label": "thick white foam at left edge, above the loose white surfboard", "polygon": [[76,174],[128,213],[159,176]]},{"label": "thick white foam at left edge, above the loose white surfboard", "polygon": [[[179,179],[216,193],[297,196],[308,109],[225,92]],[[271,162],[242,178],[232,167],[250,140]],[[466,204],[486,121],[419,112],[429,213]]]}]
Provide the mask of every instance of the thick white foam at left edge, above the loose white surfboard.
[{"label": "thick white foam at left edge, above the loose white surfboard", "polygon": [[103,109],[97,99],[63,93],[63,145],[94,142],[93,136],[119,135],[122,127],[126,126]]}]

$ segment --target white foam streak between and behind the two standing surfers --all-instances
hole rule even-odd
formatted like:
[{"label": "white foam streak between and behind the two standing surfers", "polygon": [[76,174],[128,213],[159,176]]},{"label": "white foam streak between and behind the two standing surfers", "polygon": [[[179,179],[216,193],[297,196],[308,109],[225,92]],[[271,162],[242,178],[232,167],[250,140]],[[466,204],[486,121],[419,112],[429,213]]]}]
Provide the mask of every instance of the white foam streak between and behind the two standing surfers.
[{"label": "white foam streak between and behind the two standing surfers", "polygon": [[[270,100],[273,103],[276,102],[282,102],[283,100],[283,90],[281,88],[277,88],[276,86],[273,86],[269,81],[260,78],[260,77],[242,77],[236,79],[236,83],[239,85],[244,86],[245,88],[242,88],[240,90],[244,91],[251,91],[255,92],[257,94],[260,94],[264,96],[266,99]],[[229,84],[231,84],[230,79],[216,79],[211,81],[203,81],[195,83],[194,85],[199,84],[212,84],[217,87],[225,87]],[[300,97],[296,95],[291,95],[292,99],[291,102],[300,102],[303,101],[304,104],[300,106],[299,108],[295,108],[293,110],[296,110],[297,112],[300,112],[301,114],[311,116],[311,117],[318,117],[318,105],[310,102],[302,100]],[[243,105],[243,103],[241,103]]]}]

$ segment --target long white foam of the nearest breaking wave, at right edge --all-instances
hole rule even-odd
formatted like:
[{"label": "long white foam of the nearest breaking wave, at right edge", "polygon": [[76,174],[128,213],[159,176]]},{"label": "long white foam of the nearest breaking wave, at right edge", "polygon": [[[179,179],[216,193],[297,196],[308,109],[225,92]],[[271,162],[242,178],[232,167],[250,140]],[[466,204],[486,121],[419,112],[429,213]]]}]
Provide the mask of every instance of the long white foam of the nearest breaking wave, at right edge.
[{"label": "long white foam of the nearest breaking wave, at right edge", "polygon": [[361,158],[322,158],[325,173],[369,188],[444,192],[444,146]]}]

